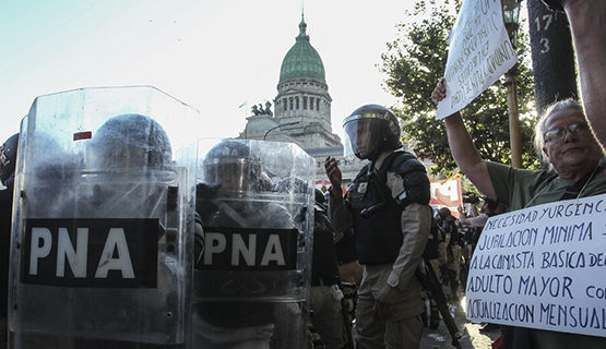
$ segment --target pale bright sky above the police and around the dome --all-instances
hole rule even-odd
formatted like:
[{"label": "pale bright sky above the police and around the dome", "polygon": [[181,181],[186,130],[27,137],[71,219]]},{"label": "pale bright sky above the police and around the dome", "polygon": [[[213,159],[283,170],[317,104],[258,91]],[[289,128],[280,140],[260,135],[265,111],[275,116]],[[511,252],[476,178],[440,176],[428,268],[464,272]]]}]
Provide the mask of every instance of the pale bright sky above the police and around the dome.
[{"label": "pale bright sky above the police and around the dome", "polygon": [[[277,94],[299,33],[320,53],[333,132],[357,107],[395,104],[377,64],[407,0],[0,0],[0,142],[37,96],[152,85],[198,109],[200,136],[237,136]],[[239,108],[243,103],[246,107]]]}]

